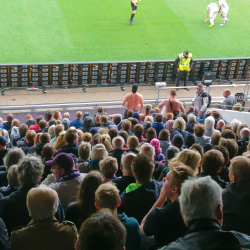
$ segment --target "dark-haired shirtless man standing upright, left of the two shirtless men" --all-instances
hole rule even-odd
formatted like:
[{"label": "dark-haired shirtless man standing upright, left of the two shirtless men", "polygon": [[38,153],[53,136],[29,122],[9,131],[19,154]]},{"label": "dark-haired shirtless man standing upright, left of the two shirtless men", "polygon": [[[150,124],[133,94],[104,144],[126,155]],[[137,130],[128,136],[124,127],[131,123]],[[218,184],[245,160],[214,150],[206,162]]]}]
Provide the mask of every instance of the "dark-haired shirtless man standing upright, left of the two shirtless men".
[{"label": "dark-haired shirtless man standing upright, left of the two shirtless men", "polygon": [[141,104],[139,114],[141,113],[143,109],[143,98],[142,98],[142,95],[137,93],[137,90],[138,90],[138,85],[134,83],[132,86],[132,93],[126,94],[122,102],[122,106],[125,106],[125,104],[127,103],[126,111],[124,113],[124,119],[127,118],[128,110],[132,109],[134,111],[138,111],[139,103]]}]

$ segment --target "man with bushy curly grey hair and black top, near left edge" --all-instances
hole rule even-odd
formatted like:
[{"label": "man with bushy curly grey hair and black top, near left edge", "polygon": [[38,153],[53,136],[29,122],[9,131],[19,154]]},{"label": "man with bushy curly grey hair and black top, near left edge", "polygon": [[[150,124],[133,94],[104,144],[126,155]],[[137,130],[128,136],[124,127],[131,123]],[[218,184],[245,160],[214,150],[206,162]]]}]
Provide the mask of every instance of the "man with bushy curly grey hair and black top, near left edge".
[{"label": "man with bushy curly grey hair and black top, near left edge", "polygon": [[[18,181],[21,186],[17,191],[0,200],[0,217],[6,225],[9,235],[13,228],[27,226],[30,222],[26,197],[31,188],[38,187],[37,183],[41,179],[43,168],[41,159],[33,155],[25,156],[18,164]],[[56,217],[60,221],[63,220],[63,210],[60,204]]]}]

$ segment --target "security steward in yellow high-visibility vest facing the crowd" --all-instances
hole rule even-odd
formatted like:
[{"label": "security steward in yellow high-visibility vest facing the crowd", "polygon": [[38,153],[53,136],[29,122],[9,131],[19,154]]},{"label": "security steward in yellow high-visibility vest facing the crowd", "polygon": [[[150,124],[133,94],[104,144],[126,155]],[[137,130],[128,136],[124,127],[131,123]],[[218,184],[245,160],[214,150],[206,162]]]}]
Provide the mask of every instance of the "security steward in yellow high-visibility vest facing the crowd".
[{"label": "security steward in yellow high-visibility vest facing the crowd", "polygon": [[[176,87],[179,87],[179,83],[181,80],[181,77],[184,78],[184,87],[186,87],[186,90],[189,90],[187,88],[187,78],[188,78],[188,72],[191,71],[191,68],[193,67],[193,59],[192,54],[189,53],[189,51],[185,51],[184,53],[179,54],[179,56],[175,59],[175,67],[177,68],[178,74],[177,74],[177,80],[176,80]],[[176,88],[178,91],[179,89]]]}]

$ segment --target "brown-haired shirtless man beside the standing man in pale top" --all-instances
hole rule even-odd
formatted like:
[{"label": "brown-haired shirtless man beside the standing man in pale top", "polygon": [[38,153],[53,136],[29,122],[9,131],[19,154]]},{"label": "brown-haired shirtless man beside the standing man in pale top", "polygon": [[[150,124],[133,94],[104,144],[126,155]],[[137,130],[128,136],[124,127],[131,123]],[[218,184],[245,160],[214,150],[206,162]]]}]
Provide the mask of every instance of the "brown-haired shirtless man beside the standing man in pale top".
[{"label": "brown-haired shirtless man beside the standing man in pale top", "polygon": [[170,113],[170,112],[173,113],[174,118],[177,118],[179,116],[179,111],[181,111],[182,113],[185,112],[185,109],[182,103],[177,101],[176,97],[177,97],[177,91],[173,89],[170,91],[170,98],[164,100],[158,106],[159,108],[162,108],[162,107],[165,108],[165,114]]}]

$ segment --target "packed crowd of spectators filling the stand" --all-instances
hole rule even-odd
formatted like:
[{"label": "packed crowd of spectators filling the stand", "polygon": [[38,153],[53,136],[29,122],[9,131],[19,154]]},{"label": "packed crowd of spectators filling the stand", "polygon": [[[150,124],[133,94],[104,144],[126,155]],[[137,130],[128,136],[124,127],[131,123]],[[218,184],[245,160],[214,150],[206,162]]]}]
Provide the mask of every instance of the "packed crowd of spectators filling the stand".
[{"label": "packed crowd of spectators filling the stand", "polygon": [[0,118],[0,249],[250,248],[250,129],[199,91],[187,113],[172,90],[126,117]]}]

